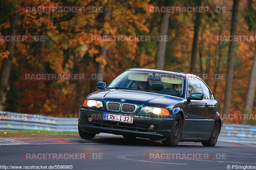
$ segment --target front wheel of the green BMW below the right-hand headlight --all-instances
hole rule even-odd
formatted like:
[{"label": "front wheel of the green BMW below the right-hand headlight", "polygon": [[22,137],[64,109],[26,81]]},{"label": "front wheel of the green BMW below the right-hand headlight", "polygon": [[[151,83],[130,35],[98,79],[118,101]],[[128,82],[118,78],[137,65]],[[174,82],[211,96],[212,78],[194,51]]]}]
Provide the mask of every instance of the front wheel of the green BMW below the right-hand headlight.
[{"label": "front wheel of the green BMW below the right-hand headlight", "polygon": [[168,138],[162,141],[164,146],[177,146],[182,132],[182,120],[180,113],[178,113],[172,124],[171,134]]}]

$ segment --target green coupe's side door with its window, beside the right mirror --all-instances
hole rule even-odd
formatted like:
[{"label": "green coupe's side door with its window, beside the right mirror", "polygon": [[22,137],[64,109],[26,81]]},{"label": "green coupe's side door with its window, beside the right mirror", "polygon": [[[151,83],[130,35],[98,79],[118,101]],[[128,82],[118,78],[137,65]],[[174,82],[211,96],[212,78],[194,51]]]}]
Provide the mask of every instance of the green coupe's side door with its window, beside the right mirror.
[{"label": "green coupe's side door with its window, beside the right mirror", "polygon": [[[188,79],[188,96],[192,93],[203,93],[200,80],[196,77]],[[204,135],[207,133],[208,106],[206,99],[191,100],[189,103],[188,134]]]}]

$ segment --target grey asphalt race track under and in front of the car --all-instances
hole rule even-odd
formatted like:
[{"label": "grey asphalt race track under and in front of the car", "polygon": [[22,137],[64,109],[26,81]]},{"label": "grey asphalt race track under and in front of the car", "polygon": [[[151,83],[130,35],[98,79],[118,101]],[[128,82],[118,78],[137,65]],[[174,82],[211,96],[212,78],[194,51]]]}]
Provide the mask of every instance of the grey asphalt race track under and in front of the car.
[{"label": "grey asphalt race track under and in front of the car", "polygon": [[[256,147],[218,142],[214,147],[200,143],[183,142],[177,147],[164,147],[161,142],[136,138],[128,140],[119,136],[96,136],[88,143],[77,144],[36,144],[1,145],[1,166],[47,166],[72,165],[73,169],[243,169],[255,166]],[[36,154],[36,159],[25,157],[26,153]],[[86,153],[86,159],[52,160],[38,159],[38,153]],[[162,153],[162,157],[159,157]],[[167,159],[165,159],[166,155]],[[190,154],[188,154],[190,153]],[[191,159],[189,155],[194,155]],[[149,156],[150,155],[150,156]],[[179,159],[179,155],[183,159]],[[200,157],[199,155],[204,155]],[[88,157],[89,156],[89,157]],[[32,157],[31,157],[32,158]],[[100,158],[100,159],[99,159]],[[156,159],[160,158],[160,159]],[[161,159],[162,158],[162,159]],[[252,167],[253,168],[253,167]],[[33,168],[35,169],[35,168]],[[47,168],[49,169],[49,168]],[[63,168],[62,168],[63,169]],[[248,168],[247,168],[248,169]]]}]

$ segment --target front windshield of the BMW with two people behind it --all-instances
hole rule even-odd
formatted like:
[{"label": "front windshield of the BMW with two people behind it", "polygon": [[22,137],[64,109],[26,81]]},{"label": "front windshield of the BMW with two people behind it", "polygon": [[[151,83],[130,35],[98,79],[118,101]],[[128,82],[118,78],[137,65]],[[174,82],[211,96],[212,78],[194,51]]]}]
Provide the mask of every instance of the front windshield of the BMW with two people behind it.
[{"label": "front windshield of the BMW with two people behind it", "polygon": [[108,89],[130,89],[183,97],[184,79],[179,75],[128,70],[117,76]]}]

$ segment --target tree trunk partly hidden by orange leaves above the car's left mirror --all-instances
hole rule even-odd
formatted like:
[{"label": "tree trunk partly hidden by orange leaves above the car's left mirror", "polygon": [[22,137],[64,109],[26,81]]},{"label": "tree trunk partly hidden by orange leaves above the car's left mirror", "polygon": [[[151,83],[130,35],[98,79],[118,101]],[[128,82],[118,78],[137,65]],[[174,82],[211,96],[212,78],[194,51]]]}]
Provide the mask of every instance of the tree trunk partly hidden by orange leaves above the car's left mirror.
[{"label": "tree trunk partly hidden by orange leaves above the car's left mirror", "polygon": [[[104,15],[104,17],[108,17],[108,16],[110,16],[110,10],[107,10],[105,12],[105,15]],[[107,35],[107,33],[103,32],[102,35],[103,36]],[[104,46],[100,47],[100,56],[102,55],[104,59],[106,58],[106,51],[107,51],[107,43],[105,42]],[[101,63],[99,63],[98,70],[97,70],[97,77],[98,77],[98,75],[101,75],[101,78],[99,77],[100,79],[98,79],[98,81],[103,81],[103,79],[104,79],[104,70],[105,70],[105,68],[102,67]]]}]

